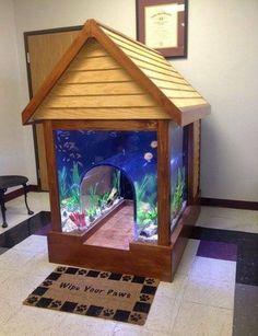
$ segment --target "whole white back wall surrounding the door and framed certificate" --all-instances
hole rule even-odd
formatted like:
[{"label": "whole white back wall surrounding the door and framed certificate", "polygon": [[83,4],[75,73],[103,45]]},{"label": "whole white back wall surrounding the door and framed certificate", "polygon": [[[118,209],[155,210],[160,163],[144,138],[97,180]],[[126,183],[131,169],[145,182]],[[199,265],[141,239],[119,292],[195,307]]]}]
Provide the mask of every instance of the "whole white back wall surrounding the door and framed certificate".
[{"label": "whole white back wall surrounding the door and framed certificate", "polygon": [[[136,36],[134,0],[13,1],[21,108],[28,100],[24,31],[78,25],[94,18]],[[257,28],[257,0],[189,0],[188,58],[174,65],[212,105],[202,127],[203,197],[258,200]],[[28,176],[35,179],[28,131],[24,139]]]}]

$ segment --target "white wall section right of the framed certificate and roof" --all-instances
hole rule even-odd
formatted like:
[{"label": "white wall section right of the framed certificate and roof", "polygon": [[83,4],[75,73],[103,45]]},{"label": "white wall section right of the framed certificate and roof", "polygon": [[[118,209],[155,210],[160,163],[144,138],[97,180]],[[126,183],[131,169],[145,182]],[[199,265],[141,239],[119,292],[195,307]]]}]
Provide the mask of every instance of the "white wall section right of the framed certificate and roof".
[{"label": "white wall section right of the framed certificate and roof", "polygon": [[189,2],[189,56],[175,66],[212,106],[202,196],[258,201],[258,1]]}]

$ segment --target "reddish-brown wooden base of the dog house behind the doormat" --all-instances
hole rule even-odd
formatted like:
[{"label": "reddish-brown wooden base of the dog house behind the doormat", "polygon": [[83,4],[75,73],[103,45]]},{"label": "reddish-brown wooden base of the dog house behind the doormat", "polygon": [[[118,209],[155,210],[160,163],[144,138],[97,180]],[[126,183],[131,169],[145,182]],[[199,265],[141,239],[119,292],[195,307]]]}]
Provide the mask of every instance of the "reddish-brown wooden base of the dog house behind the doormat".
[{"label": "reddish-brown wooden base of the dog house behind the doormat", "polygon": [[[94,241],[93,235],[92,240],[87,237],[83,241],[82,236],[51,231],[48,234],[49,260],[172,281],[199,210],[199,206],[189,206],[185,209],[171,236],[169,246],[132,242],[129,250],[120,250],[89,244]],[[105,231],[104,227],[103,230]],[[105,241],[99,235],[95,237],[99,242]],[[121,246],[125,246],[125,242]]]}]

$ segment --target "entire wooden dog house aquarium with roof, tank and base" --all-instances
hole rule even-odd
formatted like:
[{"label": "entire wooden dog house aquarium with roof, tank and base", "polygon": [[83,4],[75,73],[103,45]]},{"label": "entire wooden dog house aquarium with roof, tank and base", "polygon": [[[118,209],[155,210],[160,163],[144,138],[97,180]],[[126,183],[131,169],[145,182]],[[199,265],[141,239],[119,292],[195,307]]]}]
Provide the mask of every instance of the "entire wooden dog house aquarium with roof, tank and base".
[{"label": "entire wooden dog house aquarium with roof, tank and base", "polygon": [[199,213],[209,113],[161,54],[86,21],[23,112],[44,124],[50,262],[171,281]]}]

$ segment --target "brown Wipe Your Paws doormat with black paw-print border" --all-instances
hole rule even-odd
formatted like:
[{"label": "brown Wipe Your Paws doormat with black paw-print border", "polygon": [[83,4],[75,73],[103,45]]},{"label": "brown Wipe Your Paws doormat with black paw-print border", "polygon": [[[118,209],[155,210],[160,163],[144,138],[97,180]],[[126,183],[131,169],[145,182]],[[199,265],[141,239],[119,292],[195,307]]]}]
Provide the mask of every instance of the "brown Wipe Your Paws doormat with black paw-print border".
[{"label": "brown Wipe Your Paws doormat with black paw-print border", "polygon": [[160,280],[78,267],[57,267],[23,302],[143,325]]}]

